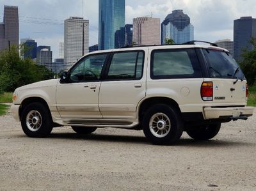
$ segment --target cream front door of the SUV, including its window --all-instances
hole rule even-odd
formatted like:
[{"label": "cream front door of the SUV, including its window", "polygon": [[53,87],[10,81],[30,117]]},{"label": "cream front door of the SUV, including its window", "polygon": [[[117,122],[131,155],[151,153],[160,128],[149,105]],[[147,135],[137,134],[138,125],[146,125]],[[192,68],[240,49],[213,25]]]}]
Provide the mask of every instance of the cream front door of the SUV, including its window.
[{"label": "cream front door of the SUV, including its window", "polygon": [[61,118],[99,119],[100,75],[108,54],[81,59],[68,72],[67,83],[59,83],[56,104]]}]

